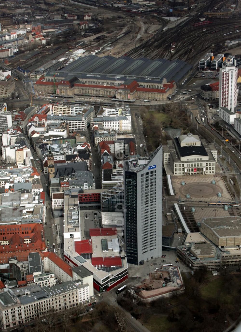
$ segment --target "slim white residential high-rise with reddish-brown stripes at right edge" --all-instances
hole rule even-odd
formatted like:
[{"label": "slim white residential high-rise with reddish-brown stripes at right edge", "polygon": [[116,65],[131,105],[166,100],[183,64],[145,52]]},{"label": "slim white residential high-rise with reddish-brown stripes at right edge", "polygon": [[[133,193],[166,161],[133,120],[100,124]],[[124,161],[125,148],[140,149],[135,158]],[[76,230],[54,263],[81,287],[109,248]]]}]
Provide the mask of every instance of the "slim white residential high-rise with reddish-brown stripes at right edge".
[{"label": "slim white residential high-rise with reddish-brown stripes at right edge", "polygon": [[227,60],[219,71],[219,109],[226,107],[234,112],[237,105],[238,69]]}]

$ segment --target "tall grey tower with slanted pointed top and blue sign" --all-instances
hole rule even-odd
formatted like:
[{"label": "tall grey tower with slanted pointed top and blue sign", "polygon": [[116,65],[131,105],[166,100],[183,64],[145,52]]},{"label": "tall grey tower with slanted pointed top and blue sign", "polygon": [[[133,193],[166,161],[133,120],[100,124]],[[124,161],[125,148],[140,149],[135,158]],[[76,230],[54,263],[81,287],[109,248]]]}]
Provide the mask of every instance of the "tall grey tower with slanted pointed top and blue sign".
[{"label": "tall grey tower with slanted pointed top and blue sign", "polygon": [[162,147],[124,164],[124,237],[127,262],[162,255]]}]

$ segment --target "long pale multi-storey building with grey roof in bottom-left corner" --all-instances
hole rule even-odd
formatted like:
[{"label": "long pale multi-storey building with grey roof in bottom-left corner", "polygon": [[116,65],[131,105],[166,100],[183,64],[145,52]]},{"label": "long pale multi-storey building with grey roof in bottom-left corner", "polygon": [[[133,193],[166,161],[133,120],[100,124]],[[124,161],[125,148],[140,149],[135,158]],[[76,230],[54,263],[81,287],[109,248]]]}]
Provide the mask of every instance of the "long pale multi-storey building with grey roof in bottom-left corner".
[{"label": "long pale multi-storey building with grey roof in bottom-left corner", "polygon": [[0,324],[6,329],[89,302],[89,285],[67,281],[52,287],[29,285],[0,292]]}]

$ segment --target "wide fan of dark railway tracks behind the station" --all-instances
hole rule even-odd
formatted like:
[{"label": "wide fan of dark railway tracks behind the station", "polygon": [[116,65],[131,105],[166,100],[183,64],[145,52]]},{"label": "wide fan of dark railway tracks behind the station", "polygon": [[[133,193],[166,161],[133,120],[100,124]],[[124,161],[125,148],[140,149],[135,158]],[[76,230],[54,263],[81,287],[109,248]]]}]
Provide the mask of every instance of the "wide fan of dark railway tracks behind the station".
[{"label": "wide fan of dark railway tracks behind the station", "polygon": [[[212,5],[215,4],[213,3]],[[207,9],[207,6],[203,7],[203,12]],[[179,58],[186,60],[188,58],[189,62],[192,62],[195,61],[200,52],[212,47],[213,39],[216,40],[216,43],[225,41],[226,36],[224,36],[224,32],[230,32],[231,30],[230,38],[238,38],[240,36],[240,34],[235,34],[237,26],[241,25],[240,20],[214,18],[210,19],[212,24],[194,27],[193,25],[199,22],[199,17],[196,14],[176,27],[165,32],[159,31],[153,38],[128,51],[126,55],[132,58],[145,56],[150,59],[165,57],[166,59],[174,60]],[[206,31],[203,31],[204,28]],[[215,31],[215,35],[210,33],[210,29]],[[176,43],[175,49],[177,51],[175,53],[170,52],[171,42]]]}]

